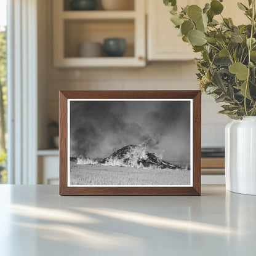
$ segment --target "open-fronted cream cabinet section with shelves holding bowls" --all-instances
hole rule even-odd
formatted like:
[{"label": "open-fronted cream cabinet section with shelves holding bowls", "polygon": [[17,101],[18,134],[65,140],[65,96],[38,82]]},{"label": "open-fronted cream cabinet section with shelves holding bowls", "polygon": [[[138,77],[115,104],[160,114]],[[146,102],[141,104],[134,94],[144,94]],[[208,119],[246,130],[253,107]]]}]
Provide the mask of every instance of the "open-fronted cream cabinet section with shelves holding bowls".
[{"label": "open-fronted cream cabinet section with shelves holding bowls", "polygon": [[[145,1],[134,1],[134,10],[70,10],[65,0],[54,0],[54,66],[97,67],[146,65]],[[79,44],[105,38],[124,38],[123,57],[79,57]]]}]

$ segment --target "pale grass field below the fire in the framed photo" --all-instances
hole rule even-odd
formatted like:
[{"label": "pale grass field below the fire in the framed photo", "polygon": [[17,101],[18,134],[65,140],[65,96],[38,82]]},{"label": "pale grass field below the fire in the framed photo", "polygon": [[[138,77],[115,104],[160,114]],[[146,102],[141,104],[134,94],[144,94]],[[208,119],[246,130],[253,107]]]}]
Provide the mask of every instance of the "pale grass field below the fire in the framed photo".
[{"label": "pale grass field below the fire in the framed photo", "polygon": [[190,170],[70,163],[70,185],[190,185]]}]

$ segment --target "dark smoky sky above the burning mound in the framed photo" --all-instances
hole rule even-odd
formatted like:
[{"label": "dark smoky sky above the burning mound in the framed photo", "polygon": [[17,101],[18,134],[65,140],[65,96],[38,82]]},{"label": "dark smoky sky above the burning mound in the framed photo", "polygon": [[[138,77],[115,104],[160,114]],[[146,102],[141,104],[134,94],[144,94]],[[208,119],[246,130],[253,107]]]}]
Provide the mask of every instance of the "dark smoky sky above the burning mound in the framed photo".
[{"label": "dark smoky sky above the burning mound in the framed photo", "polygon": [[164,160],[190,161],[190,102],[70,102],[70,156],[105,158],[142,143]]}]

